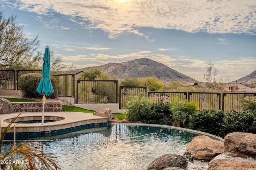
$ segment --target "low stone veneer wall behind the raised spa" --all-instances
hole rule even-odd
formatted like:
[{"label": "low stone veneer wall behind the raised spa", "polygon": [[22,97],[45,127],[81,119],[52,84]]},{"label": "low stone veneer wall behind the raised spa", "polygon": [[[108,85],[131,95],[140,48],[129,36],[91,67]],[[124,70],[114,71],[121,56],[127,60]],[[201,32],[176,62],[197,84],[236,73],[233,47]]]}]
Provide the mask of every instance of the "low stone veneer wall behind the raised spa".
[{"label": "low stone veneer wall behind the raised spa", "polygon": [[[13,102],[13,112],[41,112],[42,102]],[[61,102],[45,102],[44,111],[61,111]]]}]

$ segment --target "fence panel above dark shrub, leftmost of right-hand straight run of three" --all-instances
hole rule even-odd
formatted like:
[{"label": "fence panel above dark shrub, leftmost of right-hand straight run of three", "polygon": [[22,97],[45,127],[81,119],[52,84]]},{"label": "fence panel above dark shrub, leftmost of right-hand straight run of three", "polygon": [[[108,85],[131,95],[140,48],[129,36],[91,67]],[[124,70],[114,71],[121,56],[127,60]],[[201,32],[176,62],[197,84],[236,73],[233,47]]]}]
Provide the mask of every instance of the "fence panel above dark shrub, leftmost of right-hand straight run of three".
[{"label": "fence panel above dark shrub, leftmost of right-hand straight run of three", "polygon": [[173,100],[187,100],[187,92],[148,92],[153,102],[171,102]]}]

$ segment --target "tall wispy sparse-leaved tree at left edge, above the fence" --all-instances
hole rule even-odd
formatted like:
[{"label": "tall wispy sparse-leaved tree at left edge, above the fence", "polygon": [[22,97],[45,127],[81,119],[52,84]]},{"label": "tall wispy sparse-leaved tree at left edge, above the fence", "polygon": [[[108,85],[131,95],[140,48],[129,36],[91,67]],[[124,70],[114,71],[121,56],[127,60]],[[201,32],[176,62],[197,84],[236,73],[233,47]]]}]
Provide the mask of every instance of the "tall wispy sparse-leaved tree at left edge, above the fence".
[{"label": "tall wispy sparse-leaved tree at left edge, above the fence", "polygon": [[16,15],[5,18],[0,11],[0,68],[38,68],[42,64],[38,35],[28,39],[23,33],[23,25],[19,25],[16,18]]}]

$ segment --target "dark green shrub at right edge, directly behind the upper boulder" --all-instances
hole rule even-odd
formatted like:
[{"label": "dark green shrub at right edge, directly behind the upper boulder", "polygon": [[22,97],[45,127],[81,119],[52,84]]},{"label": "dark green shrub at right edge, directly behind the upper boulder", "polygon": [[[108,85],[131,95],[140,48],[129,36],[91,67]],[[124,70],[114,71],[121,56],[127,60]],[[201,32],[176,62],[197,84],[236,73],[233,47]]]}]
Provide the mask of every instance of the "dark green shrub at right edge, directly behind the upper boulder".
[{"label": "dark green shrub at right edge, directly behind the upper boulder", "polygon": [[256,117],[253,113],[230,111],[225,113],[220,137],[232,132],[256,133]]}]

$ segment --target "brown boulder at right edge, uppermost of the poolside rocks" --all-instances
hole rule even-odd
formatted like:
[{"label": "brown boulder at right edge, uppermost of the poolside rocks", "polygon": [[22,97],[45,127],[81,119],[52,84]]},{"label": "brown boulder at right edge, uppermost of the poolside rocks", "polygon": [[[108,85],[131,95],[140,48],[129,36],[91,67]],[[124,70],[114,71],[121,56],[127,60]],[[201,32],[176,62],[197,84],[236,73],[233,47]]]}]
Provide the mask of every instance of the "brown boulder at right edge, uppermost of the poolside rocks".
[{"label": "brown boulder at right edge, uppermost of the poolside rocks", "polygon": [[225,152],[237,151],[256,155],[256,134],[234,132],[224,138]]}]

